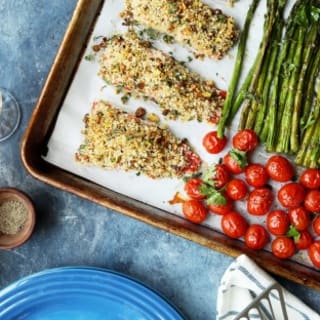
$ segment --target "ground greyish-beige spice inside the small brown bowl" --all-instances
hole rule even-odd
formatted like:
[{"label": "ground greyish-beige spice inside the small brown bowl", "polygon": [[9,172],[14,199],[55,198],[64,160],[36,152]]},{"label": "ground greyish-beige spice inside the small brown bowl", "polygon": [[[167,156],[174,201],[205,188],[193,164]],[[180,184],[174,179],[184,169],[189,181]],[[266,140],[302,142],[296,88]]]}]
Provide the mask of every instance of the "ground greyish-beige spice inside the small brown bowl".
[{"label": "ground greyish-beige spice inside the small brown bowl", "polygon": [[11,199],[0,203],[0,233],[16,234],[27,220],[28,210],[19,200]]}]

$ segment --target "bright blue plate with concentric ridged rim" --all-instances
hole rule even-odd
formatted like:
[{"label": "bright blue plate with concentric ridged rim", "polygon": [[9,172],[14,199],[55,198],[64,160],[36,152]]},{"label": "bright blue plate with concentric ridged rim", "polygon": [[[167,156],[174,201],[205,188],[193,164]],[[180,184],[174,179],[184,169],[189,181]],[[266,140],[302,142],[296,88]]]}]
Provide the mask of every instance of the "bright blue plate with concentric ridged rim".
[{"label": "bright blue plate with concentric ridged rim", "polygon": [[64,267],[0,291],[1,320],[182,320],[163,297],[109,270]]}]

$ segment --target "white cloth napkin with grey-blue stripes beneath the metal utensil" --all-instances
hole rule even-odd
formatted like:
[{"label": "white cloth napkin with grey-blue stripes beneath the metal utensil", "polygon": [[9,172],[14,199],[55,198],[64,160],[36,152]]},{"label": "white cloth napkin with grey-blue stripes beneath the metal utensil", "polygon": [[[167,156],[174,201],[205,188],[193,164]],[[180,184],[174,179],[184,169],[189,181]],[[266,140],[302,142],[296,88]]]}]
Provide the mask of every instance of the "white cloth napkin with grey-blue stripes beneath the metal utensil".
[{"label": "white cloth napkin with grey-blue stripes beneath the metal utensil", "polygon": [[[245,309],[257,296],[274,283],[276,283],[276,281],[248,256],[239,256],[231,263],[221,279],[217,297],[217,320],[234,319],[239,312]],[[306,306],[293,294],[284,288],[282,288],[282,292],[288,319],[320,319],[319,314]],[[279,302],[279,295],[271,291],[270,296],[275,319],[285,319]],[[262,306],[262,309],[263,308],[266,309],[266,313],[264,314],[265,319],[273,319],[267,310],[268,308]],[[259,318],[254,312],[255,311],[253,311],[252,318],[261,319],[261,317]]]}]

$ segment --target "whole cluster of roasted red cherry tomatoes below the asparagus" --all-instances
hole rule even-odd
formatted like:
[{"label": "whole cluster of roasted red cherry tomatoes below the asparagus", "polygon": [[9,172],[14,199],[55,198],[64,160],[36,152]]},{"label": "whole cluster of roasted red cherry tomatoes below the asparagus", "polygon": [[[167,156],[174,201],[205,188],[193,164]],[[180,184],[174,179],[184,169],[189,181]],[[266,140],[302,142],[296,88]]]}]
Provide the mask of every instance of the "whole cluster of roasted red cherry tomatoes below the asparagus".
[{"label": "whole cluster of roasted red cherry tomatoes below the asparagus", "polygon": [[[221,152],[226,142],[215,131],[202,141],[211,154]],[[281,155],[271,156],[265,165],[248,163],[248,155],[258,145],[258,137],[250,129],[237,132],[232,145],[221,163],[186,181],[184,190],[190,198],[182,205],[186,219],[201,223],[209,213],[221,215],[222,231],[231,238],[243,237],[248,248],[263,249],[271,239],[271,251],[281,259],[307,249],[311,262],[320,268],[320,238],[311,235],[320,237],[320,170],[306,169],[294,182],[295,170]],[[281,183],[276,194],[269,179]],[[275,199],[281,208],[272,210]],[[265,225],[249,225],[234,210],[235,201],[245,201],[247,212],[263,216]]]}]

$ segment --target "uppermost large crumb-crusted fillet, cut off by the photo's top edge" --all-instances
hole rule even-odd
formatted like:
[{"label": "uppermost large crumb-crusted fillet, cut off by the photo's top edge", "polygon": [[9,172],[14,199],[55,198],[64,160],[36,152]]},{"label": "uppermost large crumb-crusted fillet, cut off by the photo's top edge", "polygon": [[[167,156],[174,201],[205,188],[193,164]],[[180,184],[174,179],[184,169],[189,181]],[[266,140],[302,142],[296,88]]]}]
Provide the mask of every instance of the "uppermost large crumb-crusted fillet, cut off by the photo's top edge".
[{"label": "uppermost large crumb-crusted fillet, cut off by the photo's top edge", "polygon": [[236,43],[233,17],[199,0],[126,0],[127,23],[144,25],[187,44],[198,55],[221,59]]}]

